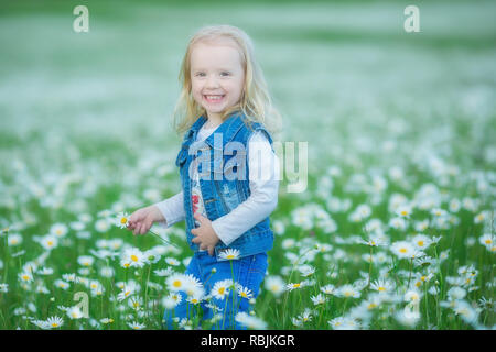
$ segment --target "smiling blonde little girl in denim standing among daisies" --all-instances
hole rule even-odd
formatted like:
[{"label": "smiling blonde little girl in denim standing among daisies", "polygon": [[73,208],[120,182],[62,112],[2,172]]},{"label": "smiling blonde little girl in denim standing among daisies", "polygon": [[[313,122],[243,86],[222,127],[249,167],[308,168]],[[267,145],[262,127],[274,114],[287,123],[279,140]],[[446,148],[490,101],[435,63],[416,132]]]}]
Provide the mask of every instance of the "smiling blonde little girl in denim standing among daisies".
[{"label": "smiling blonde little girl in denim standing among daisies", "polygon": [[[273,244],[269,215],[278,202],[279,161],[269,131],[276,131],[280,116],[251,40],[237,28],[201,29],[188,43],[180,80],[174,118],[177,131],[186,132],[175,162],[182,191],[134,211],[129,229],[144,234],[153,222],[171,227],[185,220],[194,252],[185,274],[207,294],[196,319],[242,329],[236,315],[249,312]],[[165,309],[168,329],[198,311],[181,295],[173,310]]]}]

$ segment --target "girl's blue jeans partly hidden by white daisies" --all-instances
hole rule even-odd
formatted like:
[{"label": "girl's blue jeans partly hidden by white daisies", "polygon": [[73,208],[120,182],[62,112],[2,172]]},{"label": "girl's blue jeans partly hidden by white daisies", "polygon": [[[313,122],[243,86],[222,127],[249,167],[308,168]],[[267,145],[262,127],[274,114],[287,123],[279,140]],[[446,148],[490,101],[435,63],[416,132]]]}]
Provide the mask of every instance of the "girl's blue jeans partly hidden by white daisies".
[{"label": "girl's blue jeans partly hidden by white daisies", "polygon": [[[231,266],[233,265],[233,266]],[[215,268],[216,272],[212,273]],[[259,253],[256,255],[249,255],[234,261],[220,261],[218,262],[215,256],[208,255],[208,252],[195,252],[185,274],[193,274],[198,278],[205,287],[206,293],[211,293],[215,283],[223,279],[234,279],[236,283],[247,287],[251,290],[252,298],[258,296],[261,282],[267,271],[267,253]],[[164,328],[172,330],[174,328],[173,318],[186,318],[193,319],[197,315],[197,307],[186,301],[186,296],[181,293],[182,300],[173,309],[165,309],[163,320]],[[234,297],[233,297],[234,296]],[[234,318],[237,312],[249,312],[249,300],[238,296],[238,293],[230,290],[229,296],[225,296],[224,299],[212,298],[211,302],[222,309],[216,311],[223,315],[223,318],[216,321],[212,327],[214,330],[245,330],[246,328],[239,324]],[[233,310],[234,302],[234,310]],[[200,304],[202,320],[212,319],[214,317],[214,310],[206,306],[205,302]],[[177,324],[175,324],[177,327]],[[196,328],[196,327],[194,327]]]}]

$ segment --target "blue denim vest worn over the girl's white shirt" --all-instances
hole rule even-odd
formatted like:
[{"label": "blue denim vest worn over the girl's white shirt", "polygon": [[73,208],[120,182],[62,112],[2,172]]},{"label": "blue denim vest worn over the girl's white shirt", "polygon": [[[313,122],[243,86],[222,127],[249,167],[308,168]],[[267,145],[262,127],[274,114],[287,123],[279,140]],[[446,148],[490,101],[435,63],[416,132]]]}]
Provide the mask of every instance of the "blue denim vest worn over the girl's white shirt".
[{"label": "blue denim vest worn over the girl's white shirt", "polygon": [[[266,132],[273,151],[270,133],[262,124],[249,121],[241,112],[230,114],[208,138],[196,142],[197,132],[206,121],[207,119],[201,116],[186,132],[175,161],[180,167],[184,195],[186,240],[194,252],[200,250],[200,245],[191,241],[191,230],[195,228],[191,200],[193,160],[196,157],[198,163],[200,188],[207,218],[214,221],[231,211],[250,195],[247,155],[250,135],[257,130]],[[272,249],[272,244],[273,233],[267,217],[228,246],[218,241],[215,255],[222,261],[219,255],[223,251],[235,249],[242,257],[267,252]]]}]

